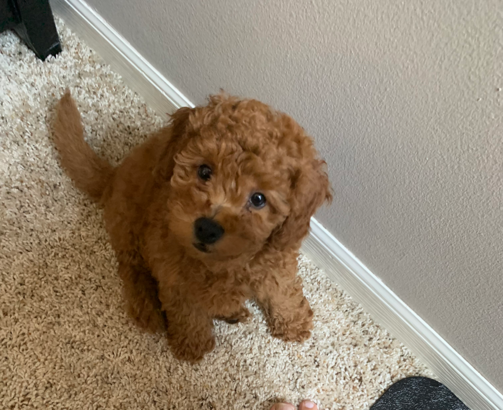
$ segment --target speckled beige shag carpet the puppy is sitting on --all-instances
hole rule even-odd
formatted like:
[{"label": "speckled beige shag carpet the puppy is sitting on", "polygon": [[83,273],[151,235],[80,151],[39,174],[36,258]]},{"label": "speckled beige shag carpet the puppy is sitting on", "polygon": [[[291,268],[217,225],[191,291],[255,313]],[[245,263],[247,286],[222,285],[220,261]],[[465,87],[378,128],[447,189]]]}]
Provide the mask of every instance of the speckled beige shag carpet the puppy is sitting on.
[{"label": "speckled beige shag carpet the puppy is sitting on", "polygon": [[45,63],[0,34],[0,408],[266,409],[314,398],[359,409],[398,379],[429,375],[304,258],[315,312],[304,344],[271,338],[253,305],[250,323],[216,324],[217,347],[195,366],[134,327],[101,212],[62,173],[48,124],[69,86],[90,143],[117,162],[161,119],[58,28],[64,51]]}]

